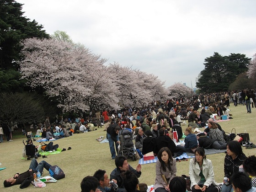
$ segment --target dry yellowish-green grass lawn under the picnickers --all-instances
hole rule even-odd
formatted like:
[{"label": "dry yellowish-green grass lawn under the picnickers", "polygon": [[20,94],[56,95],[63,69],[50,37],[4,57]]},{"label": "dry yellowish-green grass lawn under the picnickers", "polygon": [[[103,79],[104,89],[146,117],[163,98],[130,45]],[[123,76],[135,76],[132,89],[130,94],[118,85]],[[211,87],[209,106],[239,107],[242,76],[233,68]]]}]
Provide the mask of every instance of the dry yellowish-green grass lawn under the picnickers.
[{"label": "dry yellowish-green grass lawn under the picnickers", "polygon": [[[239,105],[234,107],[233,103],[230,104],[230,114],[233,114],[233,118],[230,121],[220,122],[219,124],[226,132],[231,132],[232,128],[236,129],[236,133],[243,133],[244,130],[250,133],[250,139],[253,143],[256,143],[255,134],[255,121],[256,121],[256,108],[252,108],[252,113],[247,113],[246,107]],[[182,126],[184,131],[187,126]],[[28,131],[28,130],[27,130]],[[21,190],[19,185],[5,188],[2,184],[5,179],[14,176],[15,173],[25,172],[28,170],[30,160],[22,160],[21,152],[23,149],[22,138],[14,139],[7,143],[0,143],[0,168],[6,167],[5,170],[0,171],[0,191],[17,191]],[[20,133],[19,133],[20,134]],[[17,134],[17,135],[19,135]],[[100,144],[96,141],[98,137],[103,135],[106,138],[106,132],[103,132],[103,128],[99,128],[97,131],[89,133],[74,134],[69,138],[59,139],[54,141],[54,144],[59,144],[59,148],[63,149],[70,146],[71,150],[66,150],[58,155],[48,155],[48,158],[43,159],[39,157],[38,162],[46,160],[51,165],[59,165],[64,171],[66,177],[59,180],[57,183],[46,183],[44,189],[37,188],[37,191],[54,191],[54,192],[77,192],[80,191],[81,180],[88,175],[93,175],[98,169],[107,171],[110,176],[111,171],[115,168],[114,160],[111,160],[111,154],[108,143]],[[23,138],[26,140],[26,138]],[[34,142],[37,144],[37,142]],[[256,149],[245,149],[243,152],[246,156],[255,155]],[[207,155],[207,158],[212,160],[214,177],[217,182],[222,182],[224,177],[224,153]],[[137,161],[128,160],[128,163],[135,168],[138,165]],[[142,165],[142,175],[139,178],[140,182],[147,183],[148,185],[155,182],[155,163]],[[188,175],[189,160],[177,162],[177,176],[182,174]],[[44,170],[43,176],[48,175],[48,171]],[[25,189],[27,192],[34,191],[34,187]]]}]

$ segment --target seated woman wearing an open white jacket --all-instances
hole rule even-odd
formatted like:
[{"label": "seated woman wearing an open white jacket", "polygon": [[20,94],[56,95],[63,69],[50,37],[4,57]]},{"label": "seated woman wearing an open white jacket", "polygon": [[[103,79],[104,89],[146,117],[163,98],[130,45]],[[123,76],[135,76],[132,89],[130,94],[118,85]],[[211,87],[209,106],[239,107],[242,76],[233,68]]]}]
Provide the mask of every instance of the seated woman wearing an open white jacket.
[{"label": "seated woman wearing an open white jacket", "polygon": [[211,192],[214,184],[212,161],[206,159],[202,147],[195,150],[195,158],[189,162],[189,176],[192,192]]}]

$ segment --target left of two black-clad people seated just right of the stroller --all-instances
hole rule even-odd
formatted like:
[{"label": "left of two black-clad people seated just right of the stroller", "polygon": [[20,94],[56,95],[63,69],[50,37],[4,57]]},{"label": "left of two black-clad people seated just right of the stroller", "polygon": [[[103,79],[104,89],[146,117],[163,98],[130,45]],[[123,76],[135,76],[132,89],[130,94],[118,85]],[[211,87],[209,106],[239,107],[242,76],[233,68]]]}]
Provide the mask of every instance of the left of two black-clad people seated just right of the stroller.
[{"label": "left of two black-clad people seated just right of the stroller", "polygon": [[151,151],[156,153],[156,143],[155,143],[155,137],[153,136],[153,133],[149,130],[145,132],[145,135],[147,136],[145,139],[143,139],[143,147],[142,147],[142,155],[145,155]]}]

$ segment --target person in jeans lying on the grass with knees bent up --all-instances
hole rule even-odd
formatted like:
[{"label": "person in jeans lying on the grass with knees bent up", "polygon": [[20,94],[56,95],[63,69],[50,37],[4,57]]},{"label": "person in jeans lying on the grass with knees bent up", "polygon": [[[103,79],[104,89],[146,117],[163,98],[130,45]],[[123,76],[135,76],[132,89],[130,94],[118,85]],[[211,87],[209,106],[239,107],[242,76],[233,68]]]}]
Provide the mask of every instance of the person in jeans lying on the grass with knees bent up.
[{"label": "person in jeans lying on the grass with knees bent up", "polygon": [[29,170],[24,173],[16,173],[14,177],[11,177],[10,179],[6,179],[4,181],[5,187],[11,187],[13,185],[20,185],[27,177],[32,176],[33,173],[36,173],[37,171],[40,171],[41,175],[43,174],[43,168],[45,168],[47,171],[49,171],[49,168],[52,165],[48,164],[46,161],[42,160],[39,164],[37,163],[36,159],[32,159],[31,163],[29,165]]}]

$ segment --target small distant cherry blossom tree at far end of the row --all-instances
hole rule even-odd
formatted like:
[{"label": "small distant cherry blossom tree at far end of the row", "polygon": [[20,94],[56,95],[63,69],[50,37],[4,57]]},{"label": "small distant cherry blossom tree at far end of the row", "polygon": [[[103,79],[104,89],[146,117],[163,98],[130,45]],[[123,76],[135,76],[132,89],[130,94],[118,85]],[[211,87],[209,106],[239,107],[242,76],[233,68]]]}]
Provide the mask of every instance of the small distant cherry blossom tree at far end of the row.
[{"label": "small distant cherry blossom tree at far end of the row", "polygon": [[175,83],[167,88],[168,96],[174,99],[183,97],[183,96],[192,96],[194,92],[191,88],[181,84]]}]

